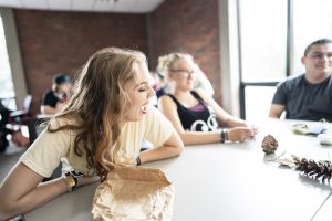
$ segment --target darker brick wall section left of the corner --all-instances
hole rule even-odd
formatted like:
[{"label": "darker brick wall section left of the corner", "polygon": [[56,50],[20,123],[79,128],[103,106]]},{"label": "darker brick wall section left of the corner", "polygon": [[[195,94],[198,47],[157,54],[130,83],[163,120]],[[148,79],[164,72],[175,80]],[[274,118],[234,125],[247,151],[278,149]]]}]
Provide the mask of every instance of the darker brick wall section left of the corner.
[{"label": "darker brick wall section left of the corner", "polygon": [[147,52],[144,14],[14,10],[32,113],[56,72],[74,76],[87,57],[104,46]]}]

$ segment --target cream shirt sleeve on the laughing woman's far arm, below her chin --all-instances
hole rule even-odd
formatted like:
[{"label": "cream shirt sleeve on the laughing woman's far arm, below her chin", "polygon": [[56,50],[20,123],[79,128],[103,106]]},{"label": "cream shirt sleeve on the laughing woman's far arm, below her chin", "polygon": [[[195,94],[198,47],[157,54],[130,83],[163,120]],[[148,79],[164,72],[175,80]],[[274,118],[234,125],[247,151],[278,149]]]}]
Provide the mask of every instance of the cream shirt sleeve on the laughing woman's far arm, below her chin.
[{"label": "cream shirt sleeve on the laughing woman's far arm, below her chin", "polygon": [[170,137],[175,129],[155,106],[151,106],[149,112],[144,137],[154,144],[154,147],[158,147]]}]

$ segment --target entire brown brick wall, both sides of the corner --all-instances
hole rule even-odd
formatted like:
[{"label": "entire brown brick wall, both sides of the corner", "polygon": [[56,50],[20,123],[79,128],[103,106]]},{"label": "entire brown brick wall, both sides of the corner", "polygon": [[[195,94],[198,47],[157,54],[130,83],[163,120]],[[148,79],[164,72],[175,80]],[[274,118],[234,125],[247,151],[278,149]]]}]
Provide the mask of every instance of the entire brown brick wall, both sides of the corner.
[{"label": "entire brown brick wall, both sides of the corner", "polygon": [[138,49],[157,57],[187,52],[211,81],[221,104],[218,0],[167,0],[149,14],[13,10],[32,113],[56,72],[74,76],[104,46]]}]

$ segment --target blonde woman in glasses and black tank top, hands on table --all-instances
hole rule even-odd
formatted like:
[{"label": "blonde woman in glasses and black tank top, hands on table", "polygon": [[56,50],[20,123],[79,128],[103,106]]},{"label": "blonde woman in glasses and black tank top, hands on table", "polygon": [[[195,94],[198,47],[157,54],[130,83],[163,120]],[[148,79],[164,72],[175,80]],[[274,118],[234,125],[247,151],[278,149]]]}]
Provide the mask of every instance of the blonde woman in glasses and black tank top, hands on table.
[{"label": "blonde woman in glasses and black tank top, hands on table", "polygon": [[[194,90],[195,62],[191,55],[172,53],[158,60],[170,93],[158,101],[158,108],[173,123],[185,145],[245,141],[257,134],[255,127],[226,113],[201,90]],[[217,118],[229,128],[218,128]]]}]

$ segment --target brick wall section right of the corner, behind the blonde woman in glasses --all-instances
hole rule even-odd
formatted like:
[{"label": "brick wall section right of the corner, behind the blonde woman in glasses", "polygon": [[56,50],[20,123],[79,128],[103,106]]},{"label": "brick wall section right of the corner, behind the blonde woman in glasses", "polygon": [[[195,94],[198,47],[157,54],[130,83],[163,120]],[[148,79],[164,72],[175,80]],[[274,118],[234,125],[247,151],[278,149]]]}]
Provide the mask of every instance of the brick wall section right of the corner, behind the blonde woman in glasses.
[{"label": "brick wall section right of the corner, behind the blonde woman in glasses", "polygon": [[221,104],[218,0],[167,0],[148,15],[151,67],[159,55],[187,52],[207,74]]}]

